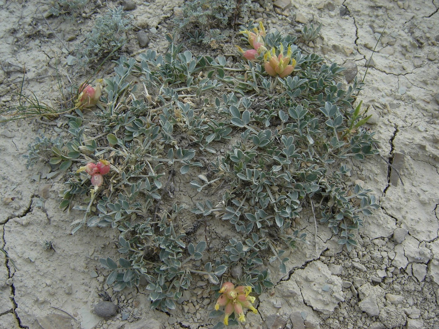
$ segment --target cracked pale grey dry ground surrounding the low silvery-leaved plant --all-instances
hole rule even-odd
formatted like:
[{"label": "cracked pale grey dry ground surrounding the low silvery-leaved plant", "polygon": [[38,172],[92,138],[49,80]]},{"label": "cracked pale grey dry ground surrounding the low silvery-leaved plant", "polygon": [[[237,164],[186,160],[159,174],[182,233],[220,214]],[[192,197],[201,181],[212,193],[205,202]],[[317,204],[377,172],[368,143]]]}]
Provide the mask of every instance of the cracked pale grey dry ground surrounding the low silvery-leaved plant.
[{"label": "cracked pale grey dry ground surrounding the low silvery-leaved plant", "polygon": [[[159,32],[181,5],[134,2],[134,23]],[[356,66],[361,76],[385,29],[361,92],[374,114],[369,124],[381,157],[349,163],[352,181],[374,190],[381,208],[365,220],[360,245],[350,253],[320,225],[317,248],[300,245],[290,256],[289,275],[273,273],[275,288],[259,296],[259,314],[248,315],[245,328],[439,328],[438,7],[439,0],[298,0],[284,15],[268,11],[268,30],[322,22],[321,36],[308,50],[328,62]],[[91,26],[90,19],[78,24],[50,18],[49,27],[37,8],[46,12],[47,1],[0,1],[1,107],[15,99],[23,65],[25,88],[53,99],[54,67],[66,79],[69,50]],[[138,53],[135,33],[129,38]],[[160,48],[154,40],[150,46]],[[64,133],[62,121],[55,122],[60,124],[0,125],[0,247],[14,260],[1,260],[0,328],[211,328],[214,300],[204,294],[203,283],[170,314],[149,311],[142,287],[115,293],[104,284],[107,273],[98,259],[115,253],[116,232],[85,229],[71,235],[78,214],[58,208],[64,176],[51,173],[47,164],[25,168],[22,155],[38,134]],[[53,241],[54,250],[45,250],[44,241]],[[104,293],[120,308],[109,319],[93,313]],[[128,320],[122,321],[122,313]]]}]

